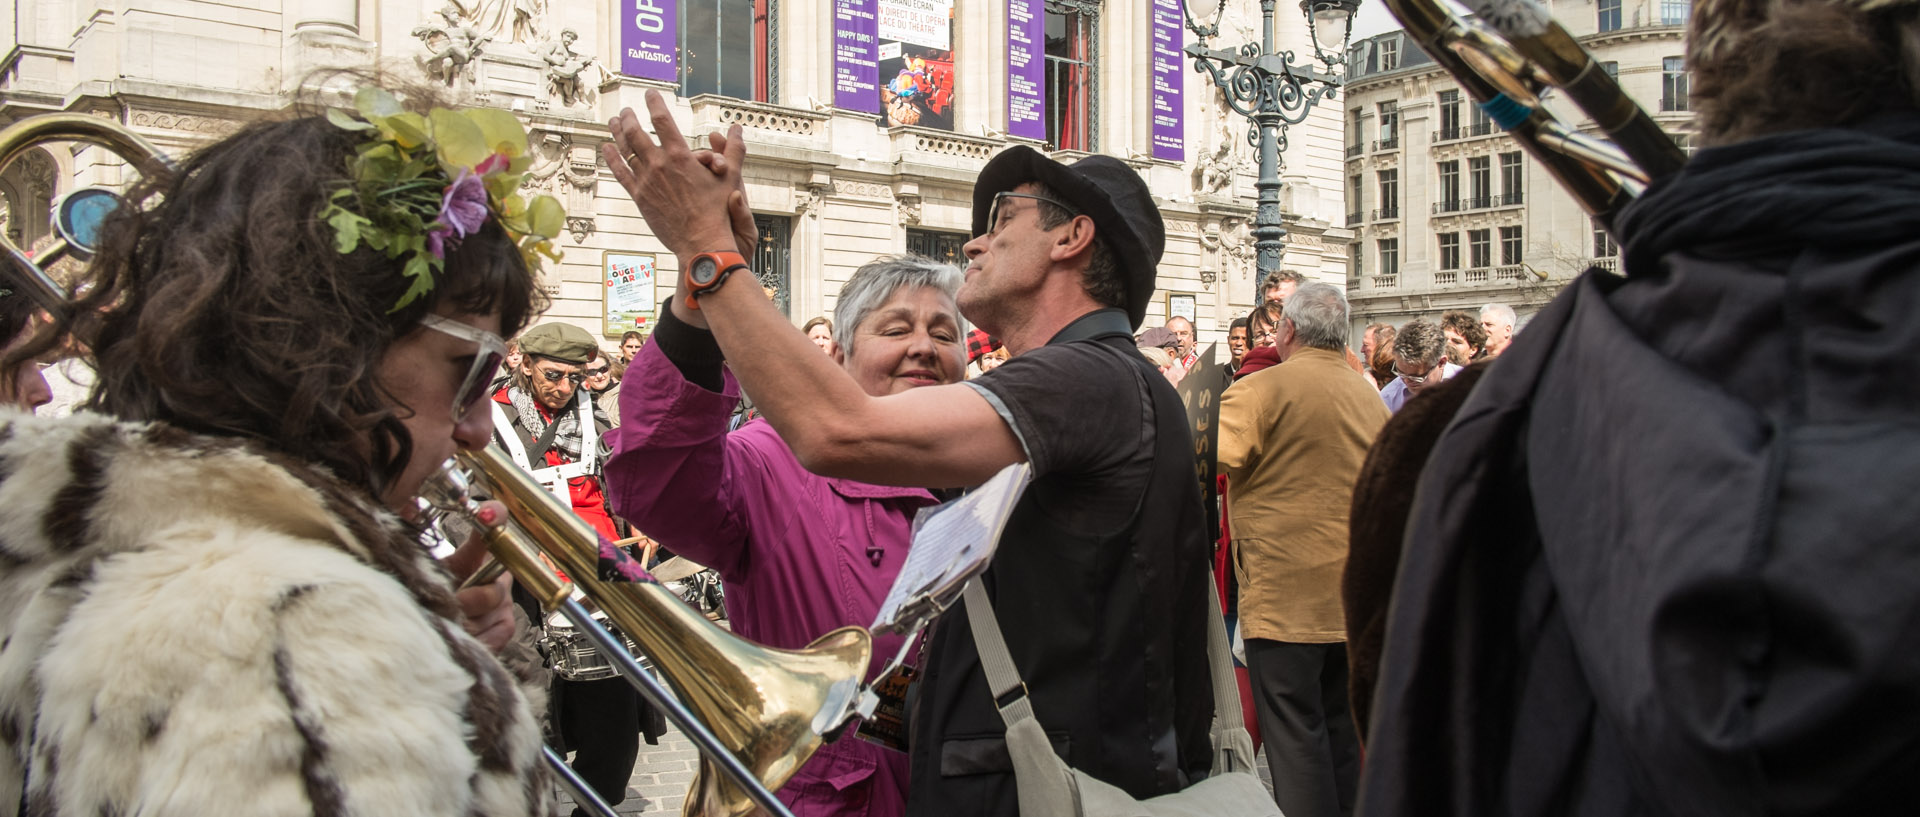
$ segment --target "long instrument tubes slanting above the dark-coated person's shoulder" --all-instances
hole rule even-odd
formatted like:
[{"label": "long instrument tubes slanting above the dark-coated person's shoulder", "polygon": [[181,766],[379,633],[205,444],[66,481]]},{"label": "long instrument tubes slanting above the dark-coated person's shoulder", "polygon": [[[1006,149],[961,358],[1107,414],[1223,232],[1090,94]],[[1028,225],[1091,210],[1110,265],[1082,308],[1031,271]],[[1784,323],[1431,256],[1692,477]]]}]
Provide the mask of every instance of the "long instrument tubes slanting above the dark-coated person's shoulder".
[{"label": "long instrument tubes slanting above the dark-coated person's shoulder", "polygon": [[[1686,153],[1538,0],[1467,0],[1461,17],[1442,0],[1386,0],[1400,25],[1453,75],[1494,123],[1532,153],[1611,228],[1645,186],[1686,163]],[[1596,138],[1540,102],[1559,88],[1605,134]]]}]

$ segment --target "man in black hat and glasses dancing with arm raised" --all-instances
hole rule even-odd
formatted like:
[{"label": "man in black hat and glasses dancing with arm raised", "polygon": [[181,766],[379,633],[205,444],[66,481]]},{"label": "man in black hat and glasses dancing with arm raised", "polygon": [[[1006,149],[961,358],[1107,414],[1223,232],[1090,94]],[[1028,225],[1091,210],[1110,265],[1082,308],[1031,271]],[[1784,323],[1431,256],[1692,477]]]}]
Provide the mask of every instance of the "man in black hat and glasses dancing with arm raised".
[{"label": "man in black hat and glasses dancing with arm raised", "polygon": [[[657,338],[691,324],[810,470],[893,485],[977,485],[1033,464],[985,591],[1039,723],[1075,769],[1137,798],[1210,769],[1208,543],[1179,397],[1135,349],[1165,226],[1140,176],[1012,148],[973,188],[960,309],[1012,351],[975,380],[870,397],[758,292],[714,276],[753,245],[739,130],[693,153],[659,94],[607,159],[680,255]],[[927,644],[912,719],[914,815],[1018,811],[1004,725],[966,610]],[[1012,696],[1018,700],[1018,694]],[[1002,700],[1000,704],[1008,704]]]}]

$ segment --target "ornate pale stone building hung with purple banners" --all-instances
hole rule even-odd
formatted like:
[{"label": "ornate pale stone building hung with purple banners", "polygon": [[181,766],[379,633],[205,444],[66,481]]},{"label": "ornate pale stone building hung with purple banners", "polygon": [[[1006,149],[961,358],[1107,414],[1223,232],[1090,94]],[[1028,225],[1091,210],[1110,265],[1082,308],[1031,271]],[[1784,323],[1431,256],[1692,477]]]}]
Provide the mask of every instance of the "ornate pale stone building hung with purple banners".
[{"label": "ornate pale stone building hung with purple banners", "polygon": [[[1098,152],[1148,180],[1167,219],[1156,324],[1169,303],[1219,339],[1254,297],[1244,119],[1185,59],[1175,4],[1100,0],[15,0],[0,59],[0,123],[42,111],[115,119],[184,153],[315,88],[378,69],[451,100],[515,111],[538,163],[528,184],[568,205],[551,315],[609,339],[645,330],[676,261],[607,173],[607,119],[672,100],[682,130],[743,125],[760,280],[795,318],[831,313],[841,282],[881,253],[964,263],[970,190],[1008,144],[1060,159]],[[1175,12],[1169,12],[1175,10]],[[1212,13],[1212,10],[1200,10]],[[1256,40],[1258,4],[1229,0],[1215,46]],[[1171,36],[1169,36],[1171,33]],[[1304,19],[1283,40],[1309,52]],[[1156,84],[1156,59],[1162,82]],[[1154,107],[1173,119],[1156,140]],[[1165,125],[1165,123],[1162,123]],[[1340,104],[1290,132],[1284,257],[1346,280]],[[44,242],[48,203],[121,184],[100,150],[33,150],[0,173],[6,232]],[[649,284],[649,274],[655,274]]]}]

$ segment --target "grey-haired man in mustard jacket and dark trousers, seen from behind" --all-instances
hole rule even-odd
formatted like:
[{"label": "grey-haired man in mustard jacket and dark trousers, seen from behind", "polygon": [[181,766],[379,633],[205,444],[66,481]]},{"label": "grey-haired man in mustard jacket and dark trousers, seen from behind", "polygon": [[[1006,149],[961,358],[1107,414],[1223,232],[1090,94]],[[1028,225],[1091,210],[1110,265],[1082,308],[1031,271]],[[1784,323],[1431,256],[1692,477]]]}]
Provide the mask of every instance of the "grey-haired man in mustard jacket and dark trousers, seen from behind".
[{"label": "grey-haired man in mustard jacket and dark trousers, seen from behind", "polygon": [[1235,384],[1219,408],[1240,631],[1273,800],[1286,817],[1340,817],[1359,775],[1340,573],[1354,479],[1390,412],[1346,364],[1338,288],[1302,286],[1277,330],[1283,362]]}]

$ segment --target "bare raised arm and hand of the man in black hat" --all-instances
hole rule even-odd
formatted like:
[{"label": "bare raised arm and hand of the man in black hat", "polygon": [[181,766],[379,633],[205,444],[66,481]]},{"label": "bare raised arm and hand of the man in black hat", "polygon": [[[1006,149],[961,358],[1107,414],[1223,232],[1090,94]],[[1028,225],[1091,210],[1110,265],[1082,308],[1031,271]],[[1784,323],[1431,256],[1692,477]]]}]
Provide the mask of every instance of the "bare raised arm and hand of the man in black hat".
[{"label": "bare raised arm and hand of the man in black hat", "polygon": [[[632,109],[611,128],[607,163],[639,205],[655,236],[680,257],[737,249],[751,224],[739,169],[745,144],[735,127],[712,136],[712,153],[693,153],[657,92],[647,92],[655,142]],[[747,247],[751,249],[751,245]],[[872,397],[787,322],[756,286],[730,284],[689,309],[676,288],[674,315],[707,326],[728,366],[814,474],[883,485],[954,487],[985,481],[1025,453],[993,405],[966,385],[935,385]],[[622,389],[624,391],[624,389]]]}]

